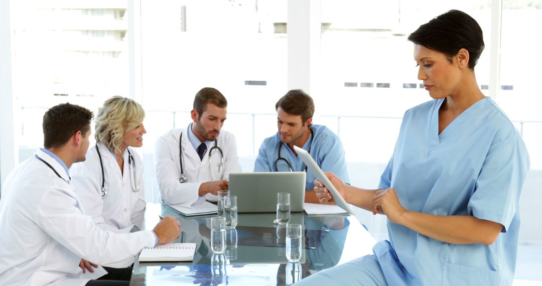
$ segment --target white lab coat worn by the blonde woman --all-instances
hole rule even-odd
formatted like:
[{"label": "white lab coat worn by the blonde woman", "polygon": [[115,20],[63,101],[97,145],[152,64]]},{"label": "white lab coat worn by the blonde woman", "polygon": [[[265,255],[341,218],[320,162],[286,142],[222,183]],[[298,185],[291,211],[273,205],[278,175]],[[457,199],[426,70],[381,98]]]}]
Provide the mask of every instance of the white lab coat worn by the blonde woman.
[{"label": "white lab coat worn by the blonde woman", "polygon": [[[102,198],[102,173],[96,146],[89,148],[87,159],[70,168],[70,175],[75,186],[75,193],[81,200],[86,214],[94,218],[94,222],[103,230],[117,233],[130,232],[134,225],[141,227],[145,213],[145,194],[143,183],[143,162],[139,155],[131,149],[135,160],[135,186],[132,190],[132,169],[128,164],[128,150],[124,151],[124,172],[120,172],[115,155],[98,143],[104,166],[105,188],[107,196]],[[128,147],[130,148],[130,147]],[[131,264],[131,263],[130,263]]]}]

